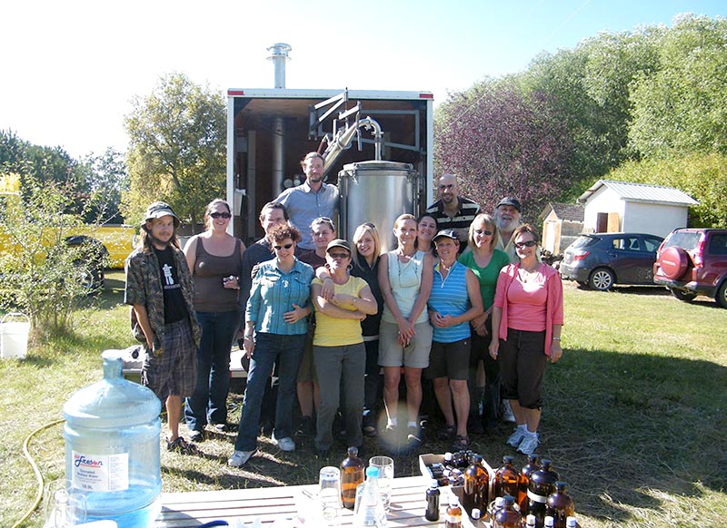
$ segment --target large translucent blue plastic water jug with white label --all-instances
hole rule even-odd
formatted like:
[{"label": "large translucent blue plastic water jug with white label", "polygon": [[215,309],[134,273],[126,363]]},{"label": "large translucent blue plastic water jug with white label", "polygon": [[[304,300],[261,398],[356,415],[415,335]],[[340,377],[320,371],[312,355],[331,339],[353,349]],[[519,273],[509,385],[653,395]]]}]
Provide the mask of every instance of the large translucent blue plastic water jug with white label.
[{"label": "large translucent blue plastic water jug with white label", "polygon": [[65,478],[85,494],[86,520],[151,526],[161,510],[161,402],[122,376],[122,350],[106,350],[104,379],[63,406]]}]

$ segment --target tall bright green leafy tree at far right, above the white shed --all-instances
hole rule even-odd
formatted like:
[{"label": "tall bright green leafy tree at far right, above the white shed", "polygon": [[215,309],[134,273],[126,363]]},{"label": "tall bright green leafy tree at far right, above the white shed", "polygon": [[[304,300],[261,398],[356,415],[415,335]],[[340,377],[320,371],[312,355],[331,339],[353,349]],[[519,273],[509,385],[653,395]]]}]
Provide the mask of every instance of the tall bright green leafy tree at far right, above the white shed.
[{"label": "tall bright green leafy tree at far right, above the white shed", "polygon": [[727,19],[679,16],[656,49],[659,69],[632,89],[632,148],[656,158],[727,152]]}]

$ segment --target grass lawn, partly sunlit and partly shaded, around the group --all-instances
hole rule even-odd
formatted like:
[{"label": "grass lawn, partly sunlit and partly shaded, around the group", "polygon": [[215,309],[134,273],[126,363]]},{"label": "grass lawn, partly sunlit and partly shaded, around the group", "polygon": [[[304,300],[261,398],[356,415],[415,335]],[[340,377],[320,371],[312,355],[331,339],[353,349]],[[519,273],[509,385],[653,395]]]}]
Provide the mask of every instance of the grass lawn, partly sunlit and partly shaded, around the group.
[{"label": "grass lawn, partly sunlit and partly shaded, around the group", "polygon": [[[75,334],[36,347],[24,361],[0,362],[0,526],[13,525],[33,503],[35,479],[22,456],[25,437],[62,416],[75,390],[101,377],[99,354],[133,344],[122,299],[123,275],[76,316]],[[685,304],[660,288],[599,293],[566,285],[563,359],[549,366],[540,452],[570,487],[584,527],[723,526],[727,518],[727,310],[699,298]],[[241,395],[231,396],[236,423]],[[30,449],[44,477],[64,474],[63,425],[35,435]],[[473,438],[493,466],[511,432]],[[262,455],[244,469],[226,465],[234,434],[201,444],[204,457],[163,451],[164,491],[312,483],[325,461],[305,445],[278,452],[264,438]],[[332,455],[329,463],[344,457]],[[367,440],[368,455],[377,451]],[[420,453],[446,445],[427,438]],[[515,455],[522,465],[522,455]],[[395,457],[397,476],[418,474],[415,455]],[[35,513],[27,526],[39,526]]]}]

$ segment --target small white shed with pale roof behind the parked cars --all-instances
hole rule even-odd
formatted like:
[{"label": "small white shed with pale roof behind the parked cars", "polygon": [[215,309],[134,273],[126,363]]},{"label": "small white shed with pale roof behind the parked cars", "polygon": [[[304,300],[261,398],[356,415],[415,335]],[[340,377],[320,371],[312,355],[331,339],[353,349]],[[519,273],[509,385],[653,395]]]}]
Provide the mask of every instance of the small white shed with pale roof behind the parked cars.
[{"label": "small white shed with pale roof behind the parked cars", "polygon": [[687,226],[689,208],[699,205],[686,192],[646,183],[599,180],[578,198],[584,232],[637,232],[666,237]]}]

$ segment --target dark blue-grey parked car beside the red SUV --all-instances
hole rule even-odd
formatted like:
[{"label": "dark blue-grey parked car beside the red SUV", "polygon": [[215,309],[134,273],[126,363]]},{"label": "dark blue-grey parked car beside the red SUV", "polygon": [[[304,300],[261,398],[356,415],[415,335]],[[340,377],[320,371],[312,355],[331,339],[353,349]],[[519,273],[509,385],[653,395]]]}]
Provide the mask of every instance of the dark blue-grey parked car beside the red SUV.
[{"label": "dark blue-grey parked car beside the red SUV", "polygon": [[604,291],[614,284],[653,284],[662,237],[644,233],[583,234],[563,251],[563,279]]}]

